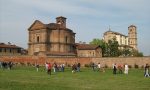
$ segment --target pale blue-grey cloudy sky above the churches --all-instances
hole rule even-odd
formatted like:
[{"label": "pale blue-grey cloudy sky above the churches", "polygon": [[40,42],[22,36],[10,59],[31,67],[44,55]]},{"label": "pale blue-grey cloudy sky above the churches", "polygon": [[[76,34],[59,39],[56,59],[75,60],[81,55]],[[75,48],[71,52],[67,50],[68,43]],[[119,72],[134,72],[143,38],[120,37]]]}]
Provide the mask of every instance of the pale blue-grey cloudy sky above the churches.
[{"label": "pale blue-grey cloudy sky above the churches", "polygon": [[134,24],[139,50],[150,55],[149,4],[150,0],[0,0],[0,42],[27,48],[27,29],[35,20],[48,24],[64,16],[76,42],[102,39],[109,26],[127,35]]}]

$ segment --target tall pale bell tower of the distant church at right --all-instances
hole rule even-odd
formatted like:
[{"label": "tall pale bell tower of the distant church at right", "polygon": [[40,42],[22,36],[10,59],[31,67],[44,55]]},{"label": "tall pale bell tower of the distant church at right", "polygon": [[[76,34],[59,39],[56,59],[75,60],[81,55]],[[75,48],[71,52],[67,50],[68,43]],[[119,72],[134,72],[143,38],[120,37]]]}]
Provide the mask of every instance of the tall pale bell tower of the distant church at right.
[{"label": "tall pale bell tower of the distant church at right", "polygon": [[129,46],[133,49],[138,50],[137,48],[137,27],[135,25],[130,25],[128,27],[128,37],[129,37]]}]

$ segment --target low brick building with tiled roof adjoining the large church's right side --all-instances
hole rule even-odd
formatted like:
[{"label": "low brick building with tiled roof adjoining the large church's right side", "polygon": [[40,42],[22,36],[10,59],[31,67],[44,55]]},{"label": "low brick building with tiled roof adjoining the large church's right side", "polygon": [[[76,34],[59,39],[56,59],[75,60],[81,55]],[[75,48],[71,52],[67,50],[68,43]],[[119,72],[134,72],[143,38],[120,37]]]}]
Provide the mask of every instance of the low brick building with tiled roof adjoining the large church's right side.
[{"label": "low brick building with tiled roof adjoining the large church's right side", "polygon": [[98,45],[76,44],[78,57],[102,57],[102,49]]}]

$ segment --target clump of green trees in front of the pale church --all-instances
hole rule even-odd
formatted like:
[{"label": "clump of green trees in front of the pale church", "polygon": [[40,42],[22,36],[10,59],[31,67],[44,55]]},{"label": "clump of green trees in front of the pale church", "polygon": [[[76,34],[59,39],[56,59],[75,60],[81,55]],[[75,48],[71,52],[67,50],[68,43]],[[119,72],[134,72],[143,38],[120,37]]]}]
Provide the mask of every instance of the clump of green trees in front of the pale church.
[{"label": "clump of green trees in front of the pale church", "polygon": [[104,40],[100,39],[93,39],[90,44],[93,45],[99,45],[102,48],[102,56],[103,57],[118,57],[118,56],[136,56],[136,57],[142,57],[143,53],[138,52],[137,50],[131,50],[128,47],[125,47],[124,49],[119,49],[118,41],[116,41],[115,38],[112,40],[109,40],[108,43],[106,43]]}]

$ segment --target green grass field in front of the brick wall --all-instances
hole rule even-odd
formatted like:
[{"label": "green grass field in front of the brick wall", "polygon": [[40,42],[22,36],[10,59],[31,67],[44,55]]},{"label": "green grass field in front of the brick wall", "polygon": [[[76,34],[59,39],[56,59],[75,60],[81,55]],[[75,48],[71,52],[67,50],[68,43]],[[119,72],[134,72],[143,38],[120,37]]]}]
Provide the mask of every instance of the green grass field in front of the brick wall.
[{"label": "green grass field in front of the brick wall", "polygon": [[47,75],[44,68],[34,67],[0,69],[0,90],[150,90],[150,78],[143,76],[143,69],[130,69],[129,75],[93,72],[90,68],[72,74],[65,72]]}]

